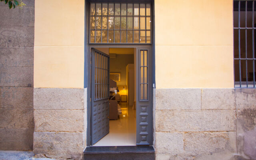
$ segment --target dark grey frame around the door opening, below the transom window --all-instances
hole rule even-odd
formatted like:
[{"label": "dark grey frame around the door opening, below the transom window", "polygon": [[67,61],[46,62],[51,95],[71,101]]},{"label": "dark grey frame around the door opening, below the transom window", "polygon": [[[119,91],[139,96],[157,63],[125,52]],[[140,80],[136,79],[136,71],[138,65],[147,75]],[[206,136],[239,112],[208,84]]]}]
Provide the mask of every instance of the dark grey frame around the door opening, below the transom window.
[{"label": "dark grey frame around the door opening, below the transom window", "polygon": [[[91,82],[91,76],[92,76],[91,60],[92,60],[92,55],[91,55],[91,53],[92,53],[92,48],[136,48],[136,54],[137,55],[139,55],[139,53],[138,53],[139,48],[144,48],[144,49],[147,48],[152,52],[152,45],[151,44],[137,44],[137,45],[136,44],[128,44],[128,45],[127,44],[125,44],[125,45],[123,45],[123,44],[90,44],[90,45],[88,45],[88,54],[89,54],[88,55],[88,59],[89,59],[88,64],[90,64],[90,65],[88,65],[88,71],[89,71],[88,75],[89,75],[89,77],[88,77],[88,87],[87,87],[87,137],[86,137],[86,146],[91,146],[91,140],[92,140],[92,135],[91,135],[91,109],[92,109],[91,108],[91,100],[92,100],[91,99],[91,97],[92,97],[91,96],[91,92],[92,92],[92,89],[91,89],[92,88],[92,82]],[[154,58],[153,54],[150,54],[150,56],[148,58],[152,62],[152,60]],[[138,60],[138,56],[137,56],[136,59]],[[136,62],[134,62],[134,63],[136,63]],[[152,64],[151,64],[151,66],[152,66]],[[138,68],[138,67],[136,66],[136,68]],[[153,75],[154,71],[152,69],[151,69],[151,71],[152,72],[149,73],[149,75]],[[138,76],[138,74],[137,74],[137,76]],[[152,77],[151,77],[151,79],[152,79]],[[151,82],[152,82],[152,80],[151,80]],[[137,84],[138,84],[138,82],[137,82]],[[149,93],[149,95],[153,96],[152,86],[149,86],[149,88],[151,88],[151,89],[149,89],[149,92],[151,92],[151,94]],[[138,95],[138,93],[136,95]],[[153,114],[153,103],[152,103],[153,102],[153,97],[152,96],[149,97],[151,107],[149,107],[150,110],[148,112],[151,113],[150,115]],[[136,110],[136,113],[137,113],[137,110]],[[149,116],[148,118],[150,118],[150,117],[152,117],[152,116]],[[150,118],[150,121],[153,121],[153,119]],[[149,135],[148,135],[149,143],[147,143],[147,144],[138,144],[137,143],[137,145],[152,145],[152,143],[153,143],[153,131],[152,131],[153,123],[149,123],[149,125],[150,125]],[[138,125],[136,125],[136,126],[138,127]],[[136,132],[137,132],[137,130],[136,130]],[[137,139],[138,139],[138,134],[139,134],[138,132],[136,133],[137,134],[137,136],[136,136]]]}]

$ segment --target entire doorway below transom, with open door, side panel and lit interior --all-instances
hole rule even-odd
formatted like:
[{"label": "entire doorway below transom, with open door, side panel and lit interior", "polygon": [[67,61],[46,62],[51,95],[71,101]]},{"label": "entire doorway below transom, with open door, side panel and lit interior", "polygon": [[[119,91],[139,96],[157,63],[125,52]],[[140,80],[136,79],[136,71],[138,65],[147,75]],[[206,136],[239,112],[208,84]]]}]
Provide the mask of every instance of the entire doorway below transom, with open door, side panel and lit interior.
[{"label": "entire doorway below transom, with open door, side panel and lit interior", "polygon": [[[118,47],[90,48],[92,55],[90,146],[150,145],[152,141],[150,48],[125,48],[126,46],[120,48],[120,45]],[[122,54],[131,49],[134,50],[133,53]],[[121,54],[112,50],[119,50]],[[110,68],[111,62],[115,61],[119,64],[114,65],[120,70]],[[123,68],[126,78],[121,76],[124,74],[121,71]],[[124,83],[117,85],[118,81],[121,81],[117,78],[113,85],[110,74],[119,74]],[[115,93],[115,90],[118,92]],[[113,100],[112,96],[115,97]],[[117,102],[113,104],[112,101]],[[119,107],[116,107],[117,105]],[[118,108],[121,110],[119,114]],[[116,118],[112,117],[113,112]]]}]

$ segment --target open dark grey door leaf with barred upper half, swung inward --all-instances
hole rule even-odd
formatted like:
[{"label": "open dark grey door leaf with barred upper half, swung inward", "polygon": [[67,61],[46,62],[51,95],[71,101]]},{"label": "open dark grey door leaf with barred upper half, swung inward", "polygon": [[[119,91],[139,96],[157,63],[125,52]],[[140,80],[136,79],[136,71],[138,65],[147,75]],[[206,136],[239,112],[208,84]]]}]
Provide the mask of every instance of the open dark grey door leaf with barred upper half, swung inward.
[{"label": "open dark grey door leaf with barred upper half, swung inward", "polygon": [[92,48],[91,145],[109,133],[109,56]]}]

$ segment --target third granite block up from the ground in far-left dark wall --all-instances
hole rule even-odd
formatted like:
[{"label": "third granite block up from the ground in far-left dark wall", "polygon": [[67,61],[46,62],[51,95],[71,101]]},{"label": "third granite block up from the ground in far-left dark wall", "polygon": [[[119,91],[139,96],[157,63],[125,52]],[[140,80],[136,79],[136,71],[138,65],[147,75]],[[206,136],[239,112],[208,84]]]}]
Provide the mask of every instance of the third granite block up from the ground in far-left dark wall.
[{"label": "third granite block up from the ground in far-left dark wall", "polygon": [[0,108],[33,108],[33,88],[0,88]]}]

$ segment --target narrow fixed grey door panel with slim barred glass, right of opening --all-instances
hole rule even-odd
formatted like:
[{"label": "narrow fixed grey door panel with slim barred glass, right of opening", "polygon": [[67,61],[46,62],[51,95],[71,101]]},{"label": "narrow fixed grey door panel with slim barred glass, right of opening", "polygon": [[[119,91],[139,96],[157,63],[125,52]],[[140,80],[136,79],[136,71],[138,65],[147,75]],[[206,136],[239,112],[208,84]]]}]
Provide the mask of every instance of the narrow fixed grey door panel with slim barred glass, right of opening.
[{"label": "narrow fixed grey door panel with slim barred glass, right of opening", "polygon": [[152,145],[152,55],[138,48],[136,55],[136,144]]}]

